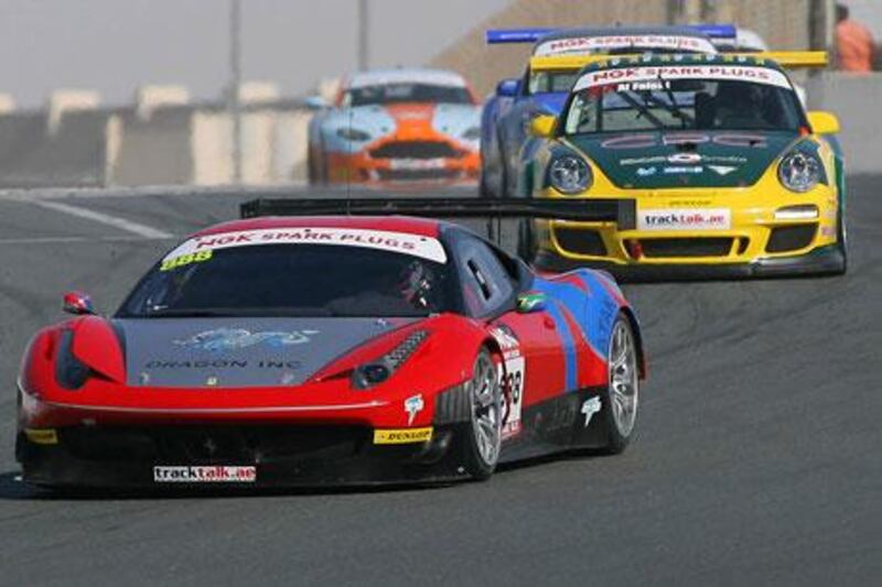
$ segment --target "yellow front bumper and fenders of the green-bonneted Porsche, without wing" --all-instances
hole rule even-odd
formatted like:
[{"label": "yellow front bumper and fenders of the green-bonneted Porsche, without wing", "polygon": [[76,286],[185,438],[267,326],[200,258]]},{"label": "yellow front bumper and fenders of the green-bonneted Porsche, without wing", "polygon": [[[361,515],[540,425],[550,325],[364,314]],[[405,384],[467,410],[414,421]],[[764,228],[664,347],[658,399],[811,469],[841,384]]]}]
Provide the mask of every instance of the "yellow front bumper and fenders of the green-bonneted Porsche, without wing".
[{"label": "yellow front bumper and fenders of the green-bonneted Porsche, without wing", "polygon": [[[569,222],[560,220],[539,220],[536,222],[536,238],[540,251],[576,262],[601,262],[616,265],[633,264],[721,264],[751,263],[759,259],[796,257],[815,249],[837,242],[839,214],[839,193],[835,154],[827,141],[817,135],[810,137],[819,145],[818,155],[824,162],[829,185],[819,184],[810,192],[797,194],[785,188],[778,180],[779,159],[775,160],[760,181],[745,187],[678,187],[664,189],[625,189],[614,185],[603,171],[587,157],[594,176],[591,187],[578,196],[564,196],[549,187],[537,189],[534,197],[544,198],[631,198],[636,200],[637,217],[652,210],[677,209],[710,214],[712,210],[729,210],[731,225],[727,229],[628,229],[622,230],[615,222]],[[562,141],[577,150],[574,145]],[[544,167],[545,162],[540,163]],[[810,207],[817,208],[816,217]],[[805,208],[808,207],[808,208]],[[782,213],[789,214],[782,217]],[[776,216],[777,215],[777,216]],[[796,217],[794,217],[796,216]],[[798,249],[771,252],[770,237],[775,228],[815,227],[814,238]],[[562,244],[563,230],[591,230],[603,241],[605,254],[585,254]],[[807,228],[808,230],[808,228]],[[731,244],[708,256],[657,256],[649,254],[655,239],[729,239]],[[636,244],[635,244],[636,243]],[[641,254],[643,249],[643,254]],[[724,249],[724,250],[723,250]]]}]

